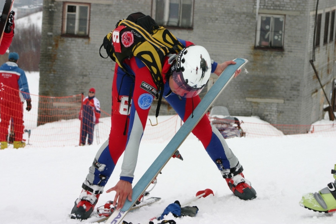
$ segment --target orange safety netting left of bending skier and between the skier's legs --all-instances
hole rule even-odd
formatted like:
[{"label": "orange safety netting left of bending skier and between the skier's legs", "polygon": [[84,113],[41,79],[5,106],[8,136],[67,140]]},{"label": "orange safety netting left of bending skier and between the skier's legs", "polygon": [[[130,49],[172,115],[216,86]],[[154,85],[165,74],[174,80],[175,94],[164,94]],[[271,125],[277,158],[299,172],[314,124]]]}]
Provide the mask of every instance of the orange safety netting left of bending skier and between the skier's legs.
[{"label": "orange safety netting left of bending skier and between the skier's legs", "polygon": [[[3,134],[4,140],[12,143],[13,140],[23,134],[23,141],[35,147],[52,146],[74,146],[80,145],[82,127],[88,128],[87,120],[94,122],[92,114],[87,119],[79,119],[80,111],[83,109],[82,94],[67,97],[46,97],[30,94],[32,109],[26,110],[27,102],[20,99],[20,91],[3,85],[0,91],[0,103],[5,102],[0,111],[0,122],[4,128],[0,129],[0,136]],[[9,110],[12,108],[13,110]],[[22,119],[23,113],[23,119]],[[147,143],[160,143],[173,138],[180,126],[178,116],[165,117],[159,121],[157,126],[151,126],[149,121],[146,124],[142,141]],[[20,122],[24,121],[23,128]],[[84,122],[83,122],[84,121]],[[21,122],[22,123],[22,122]],[[90,122],[89,122],[90,123]],[[22,131],[18,130],[19,128]],[[111,115],[101,110],[99,123],[94,125],[92,144],[100,144],[108,139],[111,128]],[[2,131],[1,131],[2,130]],[[18,132],[20,132],[18,134]],[[86,141],[89,136],[86,137]],[[87,142],[86,142],[87,144]]]}]

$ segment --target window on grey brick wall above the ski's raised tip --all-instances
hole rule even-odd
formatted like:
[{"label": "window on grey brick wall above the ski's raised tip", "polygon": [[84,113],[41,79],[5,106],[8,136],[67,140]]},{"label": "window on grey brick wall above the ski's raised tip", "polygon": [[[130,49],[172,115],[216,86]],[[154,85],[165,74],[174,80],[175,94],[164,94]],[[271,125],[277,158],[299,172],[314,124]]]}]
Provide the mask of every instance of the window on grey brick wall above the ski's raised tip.
[{"label": "window on grey brick wall above the ski's raised tip", "polygon": [[283,49],[285,16],[259,14],[256,47]]}]

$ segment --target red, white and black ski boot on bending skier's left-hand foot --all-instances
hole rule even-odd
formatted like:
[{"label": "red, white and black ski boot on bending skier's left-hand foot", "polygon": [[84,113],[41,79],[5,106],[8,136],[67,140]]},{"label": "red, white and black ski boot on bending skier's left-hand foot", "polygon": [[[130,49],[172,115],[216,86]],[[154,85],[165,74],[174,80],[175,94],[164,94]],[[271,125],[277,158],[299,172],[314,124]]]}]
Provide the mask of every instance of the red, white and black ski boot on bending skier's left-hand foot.
[{"label": "red, white and black ski boot on bending skier's left-hand foot", "polygon": [[82,190],[79,198],[71,210],[71,218],[88,219],[96,205],[100,194],[94,194],[87,190]]}]

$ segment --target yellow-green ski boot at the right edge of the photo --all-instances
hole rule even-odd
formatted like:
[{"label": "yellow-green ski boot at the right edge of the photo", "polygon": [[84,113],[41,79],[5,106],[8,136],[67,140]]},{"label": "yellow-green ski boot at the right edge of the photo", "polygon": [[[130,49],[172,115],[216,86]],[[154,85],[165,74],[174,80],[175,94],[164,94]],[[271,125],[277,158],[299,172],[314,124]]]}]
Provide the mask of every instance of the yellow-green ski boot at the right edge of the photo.
[{"label": "yellow-green ski boot at the right edge of the photo", "polygon": [[307,193],[302,196],[300,205],[309,210],[318,212],[336,211],[336,164],[331,170],[335,181],[327,184],[327,187],[315,193]]}]

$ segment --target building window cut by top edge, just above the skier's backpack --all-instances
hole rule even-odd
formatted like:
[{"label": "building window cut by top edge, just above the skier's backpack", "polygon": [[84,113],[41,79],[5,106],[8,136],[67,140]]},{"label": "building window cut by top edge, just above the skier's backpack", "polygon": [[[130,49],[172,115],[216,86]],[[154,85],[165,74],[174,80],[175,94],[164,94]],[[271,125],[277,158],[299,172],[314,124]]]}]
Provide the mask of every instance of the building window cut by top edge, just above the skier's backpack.
[{"label": "building window cut by top edge, just above the skier's backpack", "polygon": [[152,15],[164,27],[193,27],[194,0],[153,0]]}]

